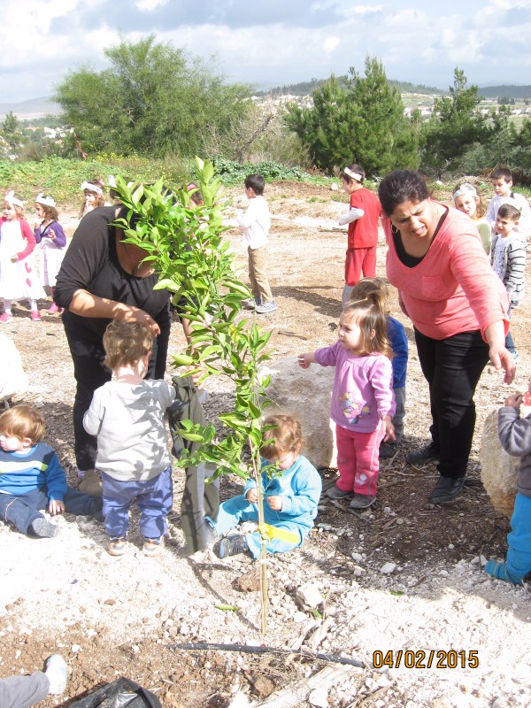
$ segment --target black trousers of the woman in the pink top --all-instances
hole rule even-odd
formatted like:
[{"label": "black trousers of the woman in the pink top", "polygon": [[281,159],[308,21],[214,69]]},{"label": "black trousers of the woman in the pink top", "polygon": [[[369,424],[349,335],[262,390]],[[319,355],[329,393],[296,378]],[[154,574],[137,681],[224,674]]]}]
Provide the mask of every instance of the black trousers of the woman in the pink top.
[{"label": "black trousers of the woman in the pink top", "polygon": [[481,332],[463,332],[436,340],[415,329],[422,373],[429,384],[432,441],[440,451],[443,477],[463,477],[475,426],[473,395],[489,361]]}]

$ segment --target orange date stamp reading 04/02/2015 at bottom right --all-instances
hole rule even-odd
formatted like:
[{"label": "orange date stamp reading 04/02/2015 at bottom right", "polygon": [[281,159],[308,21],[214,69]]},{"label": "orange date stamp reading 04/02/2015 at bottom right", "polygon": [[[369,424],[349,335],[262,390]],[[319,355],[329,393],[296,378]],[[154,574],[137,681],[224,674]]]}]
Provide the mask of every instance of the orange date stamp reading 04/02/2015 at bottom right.
[{"label": "orange date stamp reading 04/02/2015 at bottom right", "polygon": [[477,651],[466,650],[388,650],[373,651],[373,666],[381,669],[397,669],[404,666],[406,669],[477,669],[480,658]]}]

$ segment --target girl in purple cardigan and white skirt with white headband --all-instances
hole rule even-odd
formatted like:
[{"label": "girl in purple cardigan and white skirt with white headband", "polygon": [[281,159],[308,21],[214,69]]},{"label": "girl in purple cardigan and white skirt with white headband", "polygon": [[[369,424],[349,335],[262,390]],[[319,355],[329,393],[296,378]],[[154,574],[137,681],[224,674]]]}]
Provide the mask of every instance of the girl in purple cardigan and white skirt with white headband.
[{"label": "girl in purple cardigan and white skirt with white headband", "polygon": [[[42,253],[42,282],[51,290],[53,299],[53,289],[58,277],[61,261],[65,255],[66,236],[63,227],[58,222],[58,210],[55,199],[50,195],[39,194],[35,197],[35,213],[41,220],[40,224],[35,224],[35,241],[41,244]],[[57,304],[52,303],[48,308],[50,314],[63,312]]]}]

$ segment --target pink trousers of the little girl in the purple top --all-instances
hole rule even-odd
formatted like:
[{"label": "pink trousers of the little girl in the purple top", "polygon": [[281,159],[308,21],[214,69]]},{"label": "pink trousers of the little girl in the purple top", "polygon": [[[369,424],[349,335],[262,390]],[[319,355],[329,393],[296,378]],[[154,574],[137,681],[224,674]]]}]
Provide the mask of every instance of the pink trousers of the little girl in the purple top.
[{"label": "pink trousers of the little girl in the purple top", "polygon": [[335,426],[338,489],[376,496],[380,462],[381,427],[373,433],[358,433]]}]

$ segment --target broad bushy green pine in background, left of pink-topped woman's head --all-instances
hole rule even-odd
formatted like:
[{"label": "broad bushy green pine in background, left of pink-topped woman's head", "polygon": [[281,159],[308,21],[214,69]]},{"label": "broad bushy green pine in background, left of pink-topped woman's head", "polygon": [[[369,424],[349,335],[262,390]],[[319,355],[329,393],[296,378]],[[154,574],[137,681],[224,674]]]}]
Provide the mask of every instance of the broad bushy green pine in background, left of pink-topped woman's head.
[{"label": "broad bushy green pine in background, left of pink-topped woman's head", "polygon": [[311,108],[290,105],[285,120],[313,163],[327,171],[356,161],[377,175],[419,163],[417,130],[375,58],[366,58],[364,77],[351,67],[346,83],[333,76],[316,89]]}]

